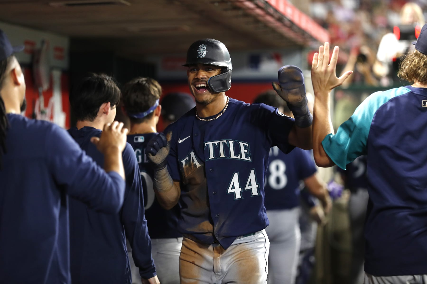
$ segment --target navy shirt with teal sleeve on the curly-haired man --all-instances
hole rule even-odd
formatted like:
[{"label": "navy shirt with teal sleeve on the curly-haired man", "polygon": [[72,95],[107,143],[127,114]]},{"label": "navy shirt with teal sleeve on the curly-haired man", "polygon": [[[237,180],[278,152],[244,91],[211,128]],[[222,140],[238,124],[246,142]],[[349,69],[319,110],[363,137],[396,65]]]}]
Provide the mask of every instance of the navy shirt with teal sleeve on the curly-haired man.
[{"label": "navy shirt with teal sleeve on the curly-haired man", "polygon": [[376,92],[323,140],[337,166],[367,155],[369,202],[365,271],[427,274],[427,91]]}]

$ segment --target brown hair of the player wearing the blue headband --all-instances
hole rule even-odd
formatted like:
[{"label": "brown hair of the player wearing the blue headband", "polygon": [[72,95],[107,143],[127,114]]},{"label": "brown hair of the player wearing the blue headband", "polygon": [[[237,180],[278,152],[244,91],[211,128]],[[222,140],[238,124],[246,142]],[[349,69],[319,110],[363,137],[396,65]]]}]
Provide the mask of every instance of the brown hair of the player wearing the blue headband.
[{"label": "brown hair of the player wearing the blue headband", "polygon": [[[122,95],[126,112],[128,114],[137,114],[145,112],[150,107],[154,106],[156,100],[160,99],[161,86],[152,78],[137,77],[123,86]],[[144,118],[132,118],[128,116],[132,123],[141,123],[144,120],[152,118],[153,115],[154,112]]]}]

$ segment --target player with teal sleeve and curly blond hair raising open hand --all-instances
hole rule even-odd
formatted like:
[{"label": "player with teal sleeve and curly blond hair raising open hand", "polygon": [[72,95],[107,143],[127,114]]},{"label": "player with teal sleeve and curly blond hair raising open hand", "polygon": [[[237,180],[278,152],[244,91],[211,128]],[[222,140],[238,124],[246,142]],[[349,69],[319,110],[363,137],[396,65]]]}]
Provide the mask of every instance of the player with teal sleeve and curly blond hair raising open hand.
[{"label": "player with teal sleeve and curly blond hair raising open hand", "polygon": [[314,158],[342,169],[367,157],[369,202],[365,223],[365,283],[426,283],[427,266],[427,25],[401,63],[399,77],[411,86],[370,95],[336,134],[330,123],[330,91],[338,47],[329,43],[313,57]]}]

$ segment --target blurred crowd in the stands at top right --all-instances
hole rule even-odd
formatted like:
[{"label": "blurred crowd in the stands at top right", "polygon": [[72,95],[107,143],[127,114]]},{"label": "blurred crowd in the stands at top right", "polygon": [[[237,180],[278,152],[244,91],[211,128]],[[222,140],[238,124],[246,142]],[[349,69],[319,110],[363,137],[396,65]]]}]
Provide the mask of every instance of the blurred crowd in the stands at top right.
[{"label": "blurred crowd in the stands at top right", "polygon": [[[408,26],[423,26],[427,0],[313,0],[311,16],[330,32],[332,45],[348,55],[342,72],[354,70],[347,85],[395,86],[399,57],[415,40],[393,34]],[[403,35],[403,34],[402,34]],[[344,61],[344,60],[343,60]]]}]

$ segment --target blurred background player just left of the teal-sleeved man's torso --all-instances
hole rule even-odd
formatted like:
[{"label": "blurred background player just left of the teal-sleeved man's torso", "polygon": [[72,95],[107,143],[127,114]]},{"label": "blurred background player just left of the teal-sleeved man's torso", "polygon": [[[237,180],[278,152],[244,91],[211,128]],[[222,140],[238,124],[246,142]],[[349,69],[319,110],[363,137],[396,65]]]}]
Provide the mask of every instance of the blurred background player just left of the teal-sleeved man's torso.
[{"label": "blurred background player just left of the teal-sleeved man's torso", "polygon": [[368,206],[368,176],[366,172],[366,156],[357,157],[345,170],[338,167],[345,188],[350,190],[348,200],[348,216],[351,230],[351,267],[350,284],[361,284],[365,273],[363,264],[365,258],[364,226],[366,207]]}]

